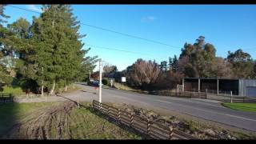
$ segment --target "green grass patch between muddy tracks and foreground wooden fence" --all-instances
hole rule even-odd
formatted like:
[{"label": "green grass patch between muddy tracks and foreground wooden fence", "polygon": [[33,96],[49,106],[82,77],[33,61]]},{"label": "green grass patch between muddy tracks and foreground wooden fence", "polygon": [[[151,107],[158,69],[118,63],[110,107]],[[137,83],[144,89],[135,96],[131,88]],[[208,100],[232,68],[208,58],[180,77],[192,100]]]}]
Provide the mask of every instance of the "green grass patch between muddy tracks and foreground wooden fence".
[{"label": "green grass patch between muddy tracks and foreground wooden fence", "polygon": [[74,118],[74,122],[70,125],[70,130],[74,138],[141,139],[138,135],[123,130],[114,123],[108,122],[105,118],[101,118],[85,108],[72,110],[70,117]]}]

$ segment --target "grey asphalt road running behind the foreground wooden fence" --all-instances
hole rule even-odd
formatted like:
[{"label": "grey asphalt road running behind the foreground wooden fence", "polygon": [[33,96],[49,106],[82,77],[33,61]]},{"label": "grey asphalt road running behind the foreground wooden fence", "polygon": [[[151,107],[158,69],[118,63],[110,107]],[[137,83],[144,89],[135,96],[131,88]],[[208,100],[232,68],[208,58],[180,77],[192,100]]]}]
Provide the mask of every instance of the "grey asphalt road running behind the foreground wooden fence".
[{"label": "grey asphalt road running behind the foreground wooden fence", "polygon": [[[93,86],[78,86],[82,87],[82,90],[78,92],[79,98],[87,101],[98,100],[98,91]],[[102,102],[126,103],[143,106],[150,110],[175,111],[180,114],[188,114],[245,130],[256,131],[256,113],[230,110],[214,100],[173,98],[138,94],[126,90],[102,89]]]}]

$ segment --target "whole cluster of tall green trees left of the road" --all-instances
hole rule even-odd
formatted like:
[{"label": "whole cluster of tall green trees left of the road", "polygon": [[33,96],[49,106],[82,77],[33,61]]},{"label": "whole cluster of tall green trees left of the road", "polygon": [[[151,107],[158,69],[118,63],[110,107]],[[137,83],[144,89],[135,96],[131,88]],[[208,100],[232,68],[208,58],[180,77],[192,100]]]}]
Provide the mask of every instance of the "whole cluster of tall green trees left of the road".
[{"label": "whole cluster of tall green trees left of the road", "polygon": [[[23,90],[54,94],[88,77],[97,57],[82,50],[77,18],[68,5],[44,5],[33,22],[19,18],[6,23],[0,5],[0,82]],[[6,26],[3,24],[6,23]]]}]

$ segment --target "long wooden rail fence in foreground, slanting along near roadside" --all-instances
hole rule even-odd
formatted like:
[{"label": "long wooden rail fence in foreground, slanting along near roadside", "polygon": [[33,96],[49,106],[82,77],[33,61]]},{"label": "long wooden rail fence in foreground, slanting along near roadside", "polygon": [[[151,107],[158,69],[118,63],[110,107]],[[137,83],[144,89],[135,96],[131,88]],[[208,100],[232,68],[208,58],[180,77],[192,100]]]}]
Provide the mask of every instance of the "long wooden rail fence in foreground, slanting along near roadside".
[{"label": "long wooden rail fence in foreground, slanting along near roadside", "polygon": [[113,106],[108,106],[104,103],[93,101],[93,108],[99,110],[102,114],[106,114],[110,118],[126,126],[130,126],[138,130],[142,134],[146,134],[155,139],[199,139],[190,134],[186,134],[173,126],[165,126],[161,123],[151,121],[148,118],[143,118],[137,114],[129,113],[125,110],[117,109]]}]

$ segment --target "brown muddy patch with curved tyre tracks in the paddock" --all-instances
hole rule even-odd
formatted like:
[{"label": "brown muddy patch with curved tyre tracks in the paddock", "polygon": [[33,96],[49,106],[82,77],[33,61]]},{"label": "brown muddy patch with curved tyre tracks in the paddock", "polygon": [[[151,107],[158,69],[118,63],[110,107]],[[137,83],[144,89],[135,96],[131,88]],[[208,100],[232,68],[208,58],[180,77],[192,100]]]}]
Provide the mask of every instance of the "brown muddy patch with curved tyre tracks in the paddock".
[{"label": "brown muddy patch with curved tyre tracks in the paddock", "polygon": [[[64,102],[44,110],[35,110],[21,122],[14,124],[5,138],[52,139],[53,135],[58,139],[72,138],[65,125],[70,119],[70,110],[75,106],[77,105],[74,102]],[[52,126],[55,126],[54,129]],[[64,137],[63,134],[68,134],[69,137]]]}]

